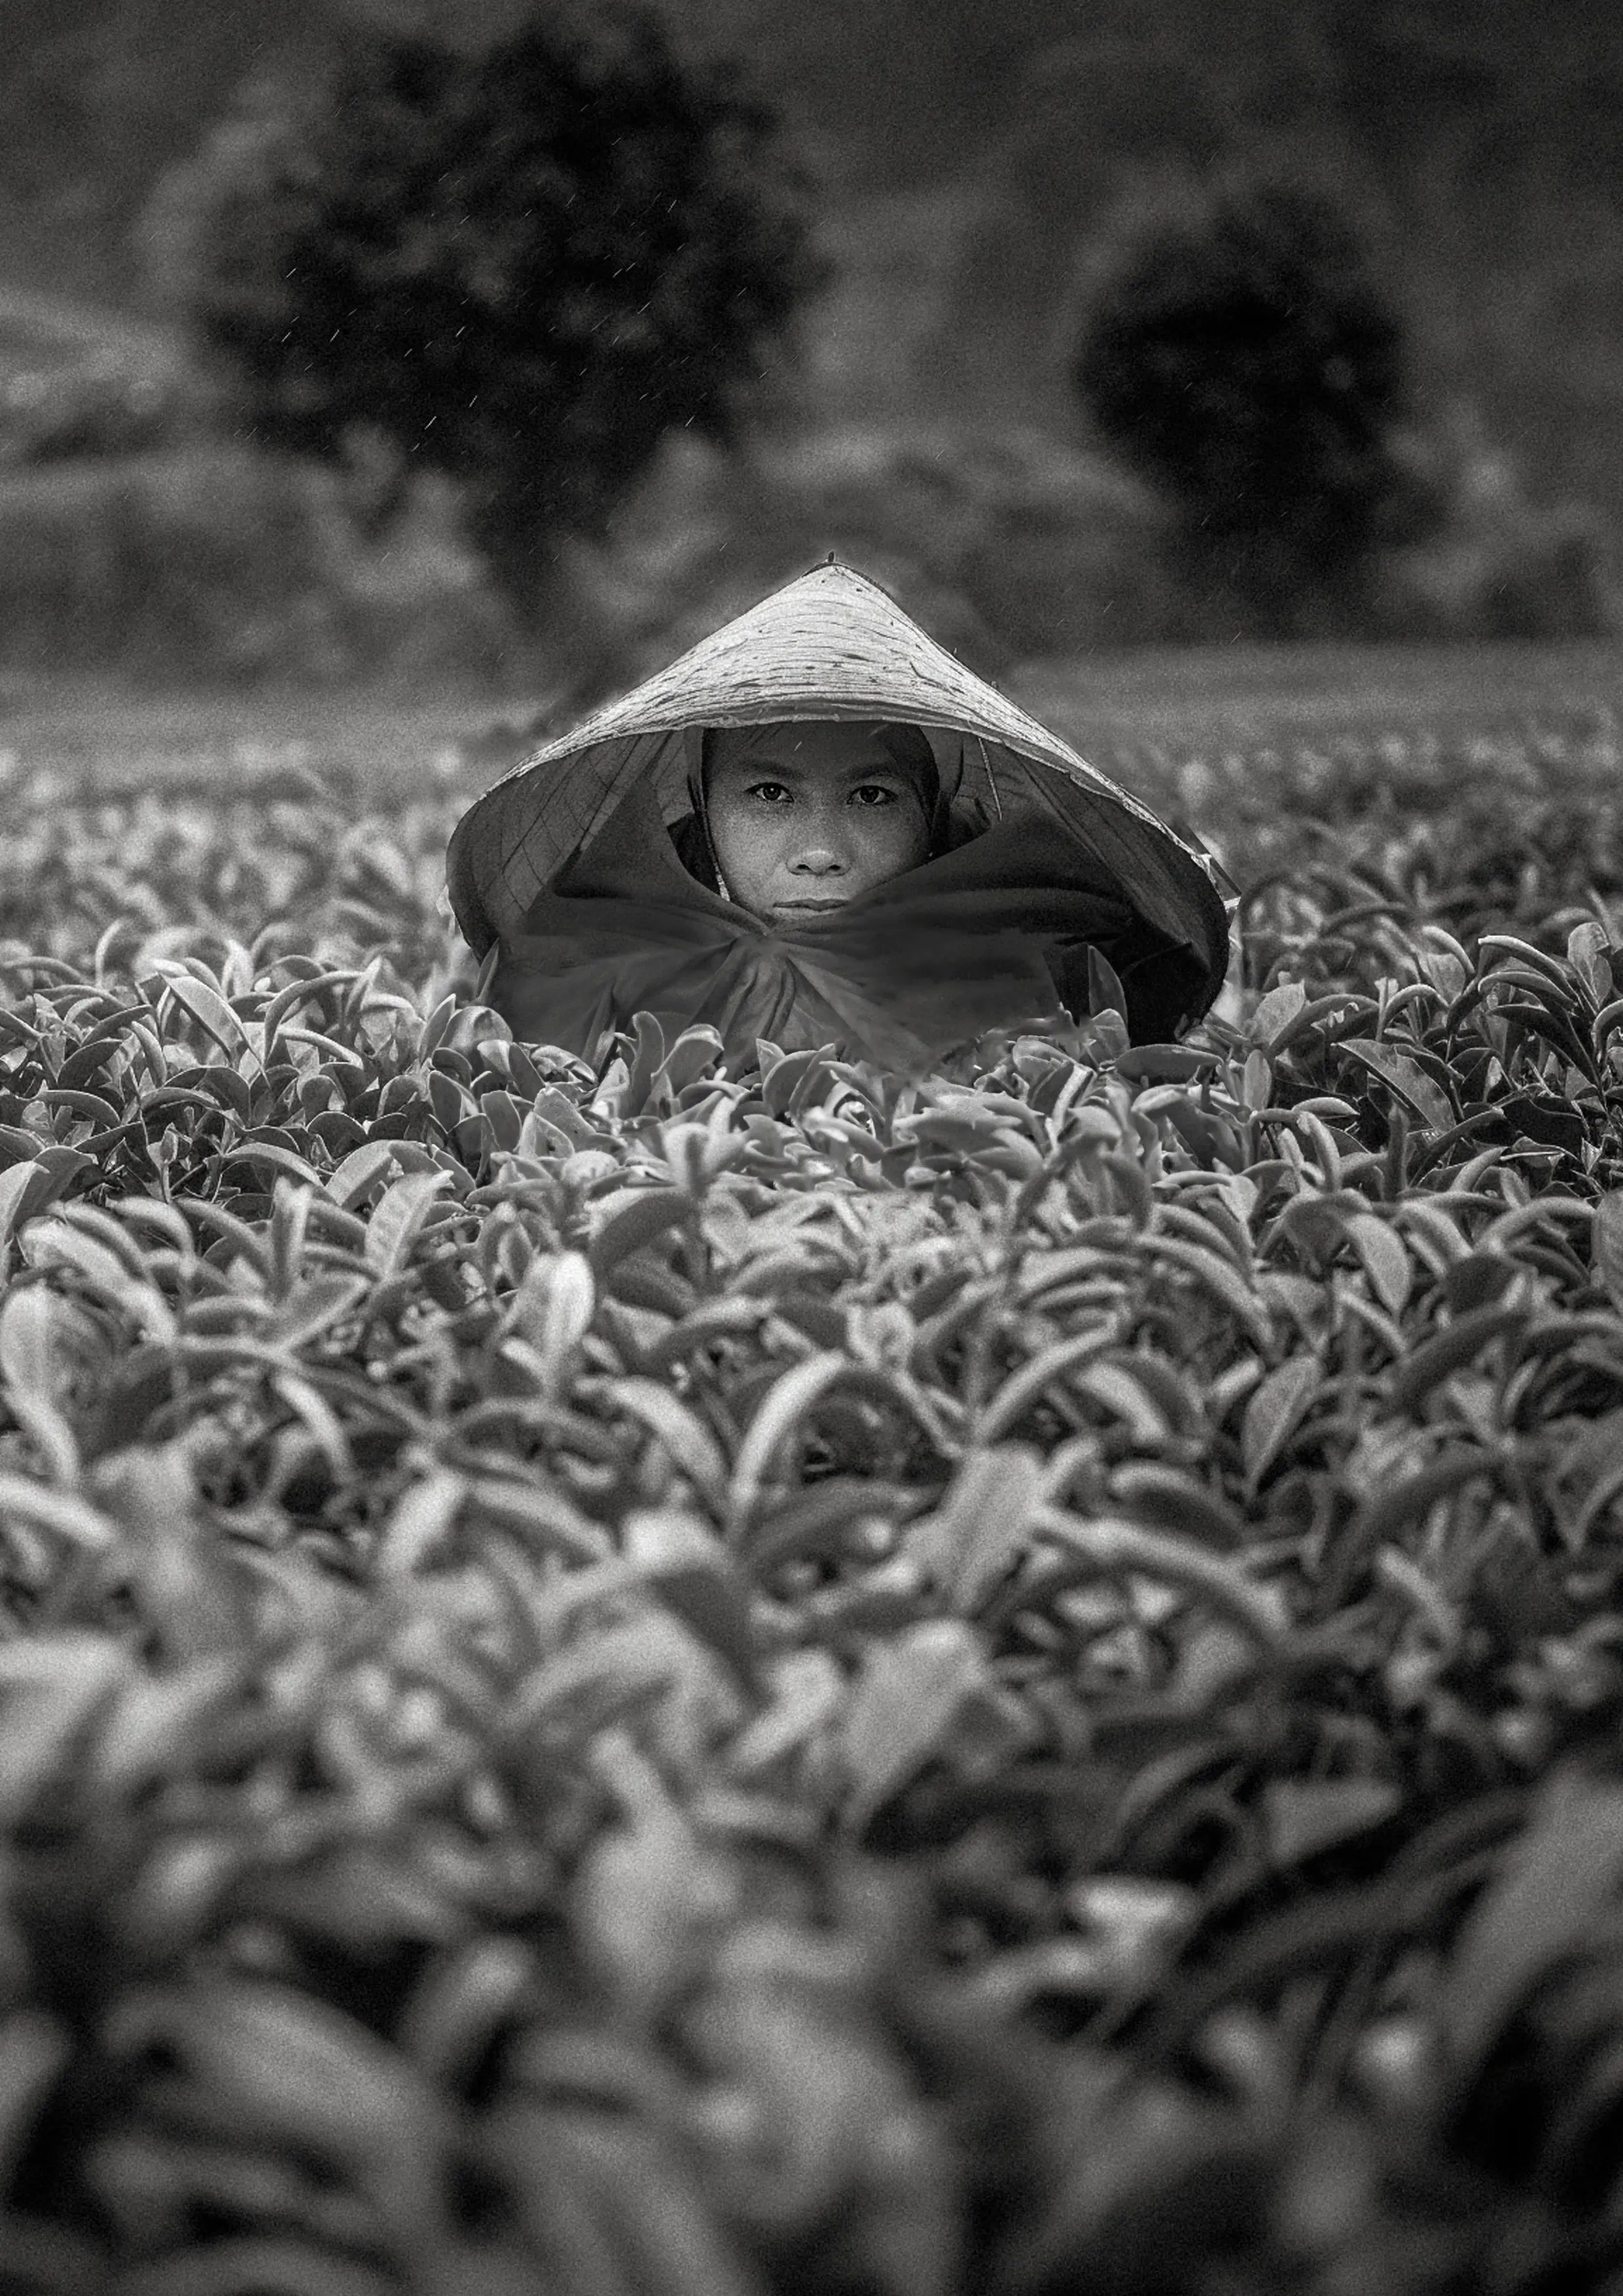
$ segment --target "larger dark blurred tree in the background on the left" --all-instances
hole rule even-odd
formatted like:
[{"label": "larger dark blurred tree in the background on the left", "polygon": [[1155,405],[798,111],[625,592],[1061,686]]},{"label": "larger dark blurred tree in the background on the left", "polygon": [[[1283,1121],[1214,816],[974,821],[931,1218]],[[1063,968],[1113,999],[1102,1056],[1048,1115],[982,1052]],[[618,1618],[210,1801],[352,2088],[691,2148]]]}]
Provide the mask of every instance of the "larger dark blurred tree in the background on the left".
[{"label": "larger dark blurred tree in the background on the left", "polygon": [[771,113],[645,0],[374,39],[259,129],[195,172],[191,255],[255,434],[466,482],[521,599],[673,427],[728,432],[820,276]]}]

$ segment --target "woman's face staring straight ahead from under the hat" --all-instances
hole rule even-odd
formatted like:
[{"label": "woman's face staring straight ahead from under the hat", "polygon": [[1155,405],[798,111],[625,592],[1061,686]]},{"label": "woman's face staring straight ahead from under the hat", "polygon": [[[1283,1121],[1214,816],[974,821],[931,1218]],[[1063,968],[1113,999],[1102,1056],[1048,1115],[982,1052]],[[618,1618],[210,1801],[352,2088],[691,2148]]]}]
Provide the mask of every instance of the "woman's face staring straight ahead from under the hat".
[{"label": "woman's face staring straight ahead from under the hat", "polygon": [[705,810],[728,893],[767,923],[838,909],[930,852],[918,785],[875,726],[721,728]]}]

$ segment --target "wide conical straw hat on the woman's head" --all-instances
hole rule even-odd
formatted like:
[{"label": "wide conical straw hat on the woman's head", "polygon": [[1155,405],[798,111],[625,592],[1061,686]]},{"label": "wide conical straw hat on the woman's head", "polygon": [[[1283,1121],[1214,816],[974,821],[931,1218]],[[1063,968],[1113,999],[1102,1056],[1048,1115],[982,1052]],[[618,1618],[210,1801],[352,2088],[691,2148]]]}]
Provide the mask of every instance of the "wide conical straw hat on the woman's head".
[{"label": "wide conical straw hat on the woman's head", "polygon": [[1228,914],[1205,856],[955,661],[875,581],[833,560],[546,742],[464,813],[448,875],[473,948],[482,955],[521,930],[537,893],[634,781],[654,776],[666,820],[686,810],[684,728],[787,719],[888,719],[937,742],[957,735],[962,792],[989,820],[1058,817],[1143,916],[1194,946],[1217,994]]}]

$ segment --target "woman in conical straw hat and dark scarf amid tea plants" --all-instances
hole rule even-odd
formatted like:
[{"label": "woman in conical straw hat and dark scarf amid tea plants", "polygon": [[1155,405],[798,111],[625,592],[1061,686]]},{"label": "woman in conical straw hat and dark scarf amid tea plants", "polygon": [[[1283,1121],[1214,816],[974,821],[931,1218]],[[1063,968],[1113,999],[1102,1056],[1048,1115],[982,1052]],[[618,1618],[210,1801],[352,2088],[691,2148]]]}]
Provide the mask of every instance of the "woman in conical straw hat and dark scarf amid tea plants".
[{"label": "woman in conical straw hat and dark scarf amid tea plants", "polygon": [[1090,948],[1162,1040],[1228,960],[1210,863],[833,563],[489,790],[450,895],[514,1033],[588,1056],[652,1010],[923,1072],[1084,1017]]}]

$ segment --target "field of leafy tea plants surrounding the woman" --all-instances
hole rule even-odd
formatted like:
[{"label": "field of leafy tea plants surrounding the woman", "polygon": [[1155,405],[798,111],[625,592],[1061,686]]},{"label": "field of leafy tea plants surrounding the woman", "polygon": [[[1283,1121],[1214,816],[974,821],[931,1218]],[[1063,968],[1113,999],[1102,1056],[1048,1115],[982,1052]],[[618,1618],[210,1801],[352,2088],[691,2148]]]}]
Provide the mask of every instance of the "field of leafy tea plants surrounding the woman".
[{"label": "field of leafy tea plants surrounding the woman", "polygon": [[14,758],[7,2291],[1623,2291],[1616,721],[1100,762],[1219,1013],[898,1086]]}]

